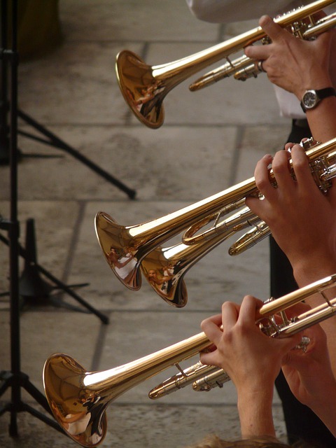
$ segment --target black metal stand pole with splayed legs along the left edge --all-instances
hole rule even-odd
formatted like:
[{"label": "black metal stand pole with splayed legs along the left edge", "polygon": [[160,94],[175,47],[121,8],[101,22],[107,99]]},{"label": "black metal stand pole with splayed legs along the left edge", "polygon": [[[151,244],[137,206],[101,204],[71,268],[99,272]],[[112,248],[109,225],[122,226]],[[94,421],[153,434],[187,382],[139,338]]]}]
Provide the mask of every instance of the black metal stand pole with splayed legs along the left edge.
[{"label": "black metal stand pole with splayed legs along the left edge", "polygon": [[[48,401],[36,387],[31,384],[27,374],[21,372],[20,368],[20,306],[19,306],[19,222],[18,222],[18,148],[17,148],[17,104],[18,104],[18,52],[16,51],[15,23],[18,5],[13,1],[13,40],[12,49],[1,48],[2,65],[10,67],[10,219],[1,222],[1,228],[8,231],[10,252],[10,372],[1,372],[0,377],[3,384],[0,388],[2,395],[8,388],[11,389],[11,401],[0,409],[0,416],[10,412],[9,433],[18,435],[18,412],[26,411],[38,417],[53,428],[62,430],[57,423],[45,414],[41,414],[33,407],[22,401],[21,388],[25,390],[41,405],[50,412]],[[1,15],[7,14],[5,2],[1,2]],[[5,27],[6,28],[6,27]],[[3,28],[1,29],[3,32]]]}]

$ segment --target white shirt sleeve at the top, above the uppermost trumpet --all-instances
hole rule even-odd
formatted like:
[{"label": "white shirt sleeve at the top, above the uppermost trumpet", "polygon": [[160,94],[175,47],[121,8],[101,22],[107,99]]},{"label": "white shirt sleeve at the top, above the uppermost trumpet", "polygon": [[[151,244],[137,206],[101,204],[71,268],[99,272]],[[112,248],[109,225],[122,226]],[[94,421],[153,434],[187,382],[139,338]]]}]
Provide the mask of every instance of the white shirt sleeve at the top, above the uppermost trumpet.
[{"label": "white shirt sleeve at the top, above the uppermost trumpet", "polygon": [[262,15],[275,17],[309,0],[186,0],[197,19],[213,23],[240,22],[259,19]]}]

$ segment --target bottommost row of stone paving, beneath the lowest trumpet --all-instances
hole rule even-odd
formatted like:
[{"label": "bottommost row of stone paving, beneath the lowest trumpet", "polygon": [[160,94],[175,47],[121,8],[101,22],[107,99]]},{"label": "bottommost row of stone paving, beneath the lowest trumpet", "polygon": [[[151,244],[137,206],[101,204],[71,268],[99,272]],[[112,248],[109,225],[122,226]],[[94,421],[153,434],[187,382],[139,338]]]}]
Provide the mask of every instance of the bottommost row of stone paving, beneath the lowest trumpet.
[{"label": "bottommost row of stone paving, beneath the lowest trumpet", "polygon": [[[176,405],[118,405],[112,403],[107,410],[107,433],[102,447],[186,448],[200,442],[208,434],[217,434],[225,440],[239,437],[237,410],[225,406]],[[279,437],[284,428],[281,409],[274,407],[274,419]],[[54,428],[22,413],[18,416],[20,436],[8,436],[8,414],[0,419],[0,444],[10,448],[76,447],[76,443]]]}]

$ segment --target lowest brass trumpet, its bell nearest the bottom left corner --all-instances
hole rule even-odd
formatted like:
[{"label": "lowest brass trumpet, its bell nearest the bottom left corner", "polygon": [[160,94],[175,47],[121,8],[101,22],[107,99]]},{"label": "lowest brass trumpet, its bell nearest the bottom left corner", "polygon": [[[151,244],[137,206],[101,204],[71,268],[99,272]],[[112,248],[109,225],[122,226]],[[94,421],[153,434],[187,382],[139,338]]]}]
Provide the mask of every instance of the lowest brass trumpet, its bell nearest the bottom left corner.
[{"label": "lowest brass trumpet, its bell nearest the bottom left corner", "polygon": [[[312,309],[309,316],[305,313],[290,321],[285,318],[283,324],[276,324],[272,316],[279,311],[283,313],[283,310],[311,294],[321,293],[325,297],[323,291],[335,286],[335,282],[335,275],[328,276],[294,293],[263,304],[256,316],[257,323],[267,317],[269,325],[263,323],[262,331],[269,337],[288,337],[323,321],[335,313],[335,299],[326,299],[325,304],[318,307],[316,312]],[[83,447],[95,447],[106,435],[106,408],[113,400],[168,367],[179,367],[181,360],[200,353],[209,345],[209,339],[201,332],[144,358],[102,372],[87,372],[71,356],[55,353],[45,361],[43,369],[45,395],[52,414],[64,432],[78,444]],[[207,372],[216,373],[218,370],[218,367],[213,366],[204,368],[208,369]],[[180,371],[183,372],[181,367]],[[223,377],[223,371],[219,373]],[[201,370],[201,374],[204,375],[204,370]],[[200,374],[194,374],[193,379],[197,377],[200,377]],[[177,383],[174,386],[174,390],[180,388]],[[170,391],[172,388],[168,393]],[[165,395],[167,388],[165,393],[160,393],[160,389],[158,393]],[[155,398],[153,391],[150,395]]]}]

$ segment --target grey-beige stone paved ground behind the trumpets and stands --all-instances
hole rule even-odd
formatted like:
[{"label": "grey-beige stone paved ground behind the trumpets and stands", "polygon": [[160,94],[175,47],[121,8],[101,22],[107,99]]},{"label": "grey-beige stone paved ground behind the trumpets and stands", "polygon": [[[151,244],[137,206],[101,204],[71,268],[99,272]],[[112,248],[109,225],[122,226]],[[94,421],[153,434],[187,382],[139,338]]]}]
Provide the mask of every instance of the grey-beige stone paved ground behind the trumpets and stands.
[{"label": "grey-beige stone paved ground behind the trumpets and stands", "polygon": [[[226,241],[202,258],[186,274],[189,298],[183,309],[163,302],[146,282],[137,292],[127,290],[102,255],[94,216],[105,211],[133,225],[214,195],[253,176],[255,162],[280,149],[290,127],[279,118],[265,76],[246,83],[229,79],[195,93],[186,80],[167,95],[159,130],[141,125],[120,94],[114,70],[120,50],[163,64],[251,29],[255,20],[227,27],[200,22],[183,0],[61,0],[59,17],[62,44],[20,63],[19,107],[76,153],[24,137],[22,132],[39,133],[20,118],[20,243],[26,244],[26,223],[32,218],[39,265],[65,285],[88,283],[74,290],[108,317],[109,325],[62,289],[52,289],[44,300],[26,298],[20,314],[21,370],[41,393],[43,364],[54,352],[68,353],[87,370],[110,369],[200,332],[200,321],[218,313],[224,300],[240,302],[246,293],[268,297],[267,241],[235,258],[228,255]],[[136,190],[135,200],[77,154]],[[0,179],[0,213],[8,217],[8,165],[0,167]],[[0,290],[6,293],[8,248],[2,243],[0,262]],[[21,259],[20,272],[23,267]],[[0,366],[10,371],[10,302],[8,295],[0,299]],[[174,372],[144,381],[109,406],[102,446],[182,448],[207,433],[239,436],[232,384],[209,393],[186,388],[149,400],[148,391]],[[31,394],[21,391],[22,400],[38,409]],[[1,395],[5,405],[9,392]],[[283,435],[276,395],[274,417]],[[2,447],[76,446],[29,412],[18,416],[18,438],[8,435],[8,422],[5,412]]]}]

